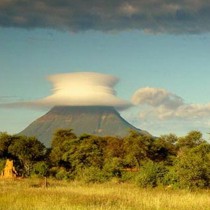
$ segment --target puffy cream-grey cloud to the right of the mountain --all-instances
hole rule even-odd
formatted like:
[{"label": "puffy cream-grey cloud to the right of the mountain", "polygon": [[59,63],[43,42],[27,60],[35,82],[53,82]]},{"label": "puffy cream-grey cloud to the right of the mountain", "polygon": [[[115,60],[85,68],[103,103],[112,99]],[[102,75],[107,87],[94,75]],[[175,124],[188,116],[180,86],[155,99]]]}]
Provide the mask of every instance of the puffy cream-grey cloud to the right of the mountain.
[{"label": "puffy cream-grey cloud to the right of the mountain", "polygon": [[141,119],[200,120],[210,117],[210,103],[187,104],[181,97],[161,88],[140,88],[134,93],[132,102],[140,106]]}]

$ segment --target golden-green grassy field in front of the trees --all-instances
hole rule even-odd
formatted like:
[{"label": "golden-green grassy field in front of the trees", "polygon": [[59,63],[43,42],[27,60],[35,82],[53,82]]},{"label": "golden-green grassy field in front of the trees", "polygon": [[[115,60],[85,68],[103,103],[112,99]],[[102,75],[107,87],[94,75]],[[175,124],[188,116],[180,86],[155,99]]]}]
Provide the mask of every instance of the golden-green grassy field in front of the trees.
[{"label": "golden-green grassy field in front of the trees", "polygon": [[140,189],[131,184],[0,180],[1,210],[210,210],[210,191]]}]

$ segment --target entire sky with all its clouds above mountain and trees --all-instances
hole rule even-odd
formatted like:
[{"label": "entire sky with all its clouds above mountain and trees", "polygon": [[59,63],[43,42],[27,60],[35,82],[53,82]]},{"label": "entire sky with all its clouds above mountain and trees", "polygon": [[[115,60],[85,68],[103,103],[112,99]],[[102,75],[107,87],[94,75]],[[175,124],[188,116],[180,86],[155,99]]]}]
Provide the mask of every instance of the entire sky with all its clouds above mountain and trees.
[{"label": "entire sky with all its clouds above mountain and trees", "polygon": [[153,135],[208,137],[209,22],[208,0],[1,0],[0,131],[100,101]]}]

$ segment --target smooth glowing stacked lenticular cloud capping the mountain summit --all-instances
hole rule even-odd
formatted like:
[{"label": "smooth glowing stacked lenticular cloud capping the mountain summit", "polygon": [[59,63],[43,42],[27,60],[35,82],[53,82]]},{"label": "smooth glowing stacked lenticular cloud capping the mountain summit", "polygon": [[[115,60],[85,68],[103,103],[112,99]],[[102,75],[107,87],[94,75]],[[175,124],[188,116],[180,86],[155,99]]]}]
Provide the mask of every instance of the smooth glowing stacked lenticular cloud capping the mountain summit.
[{"label": "smooth glowing stacked lenticular cloud capping the mountain summit", "polygon": [[[52,106],[114,106],[126,108],[129,102],[116,96],[116,77],[93,72],[55,74],[48,77],[53,83],[52,95],[28,102],[27,105]],[[26,103],[25,103],[26,104]]]}]

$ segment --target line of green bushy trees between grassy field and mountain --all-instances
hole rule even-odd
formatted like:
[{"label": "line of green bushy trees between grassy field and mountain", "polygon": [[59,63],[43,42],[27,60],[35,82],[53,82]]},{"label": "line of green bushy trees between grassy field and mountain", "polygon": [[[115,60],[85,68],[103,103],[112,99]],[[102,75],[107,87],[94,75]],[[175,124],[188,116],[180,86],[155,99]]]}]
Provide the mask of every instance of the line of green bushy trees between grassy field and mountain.
[{"label": "line of green bushy trees between grassy field and mountain", "polygon": [[210,187],[210,144],[199,131],[158,138],[131,131],[99,137],[58,130],[51,148],[34,137],[0,133],[0,171],[12,159],[19,176],[85,182],[135,182],[140,187]]}]

